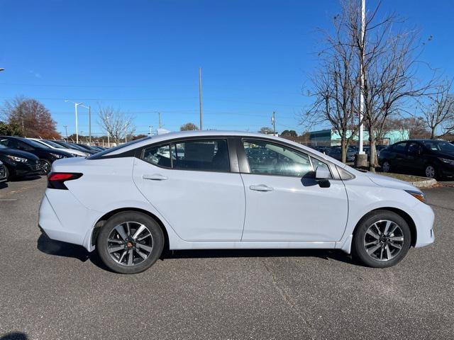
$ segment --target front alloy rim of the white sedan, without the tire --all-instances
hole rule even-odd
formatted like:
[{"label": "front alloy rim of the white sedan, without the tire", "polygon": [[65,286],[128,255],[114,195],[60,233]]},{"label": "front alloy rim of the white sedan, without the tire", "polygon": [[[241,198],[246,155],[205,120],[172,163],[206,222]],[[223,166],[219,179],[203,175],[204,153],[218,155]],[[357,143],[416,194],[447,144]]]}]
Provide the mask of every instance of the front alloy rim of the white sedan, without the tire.
[{"label": "front alloy rim of the white sedan, without the tire", "polygon": [[404,245],[404,232],[396,222],[380,220],[370,225],[364,236],[367,254],[378,261],[389,261]]}]

